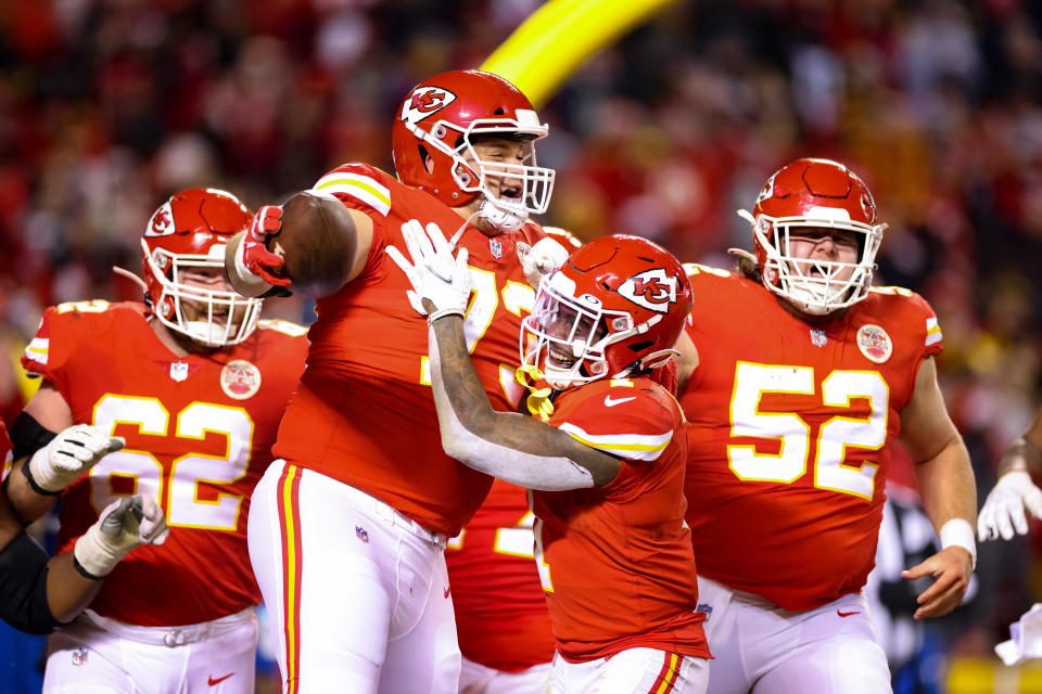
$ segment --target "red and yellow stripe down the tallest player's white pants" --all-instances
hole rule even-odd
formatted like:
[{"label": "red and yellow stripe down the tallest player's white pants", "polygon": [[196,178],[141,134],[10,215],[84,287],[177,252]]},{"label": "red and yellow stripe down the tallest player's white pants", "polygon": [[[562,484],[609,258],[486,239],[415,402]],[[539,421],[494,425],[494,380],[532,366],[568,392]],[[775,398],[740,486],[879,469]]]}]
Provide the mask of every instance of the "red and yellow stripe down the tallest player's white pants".
[{"label": "red and yellow stripe down the tallest player's white pants", "polygon": [[301,677],[301,575],[304,562],[301,552],[301,473],[296,465],[285,465],[278,486],[287,694],[296,694]]}]

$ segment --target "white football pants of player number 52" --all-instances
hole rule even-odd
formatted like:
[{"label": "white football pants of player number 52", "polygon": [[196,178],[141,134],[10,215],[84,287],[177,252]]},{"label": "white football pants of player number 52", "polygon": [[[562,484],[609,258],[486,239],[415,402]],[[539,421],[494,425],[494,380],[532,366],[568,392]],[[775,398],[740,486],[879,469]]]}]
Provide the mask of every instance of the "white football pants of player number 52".
[{"label": "white football pants of player number 52", "polygon": [[759,595],[698,577],[713,654],[709,694],[882,694],[890,669],[864,593],[787,612]]}]

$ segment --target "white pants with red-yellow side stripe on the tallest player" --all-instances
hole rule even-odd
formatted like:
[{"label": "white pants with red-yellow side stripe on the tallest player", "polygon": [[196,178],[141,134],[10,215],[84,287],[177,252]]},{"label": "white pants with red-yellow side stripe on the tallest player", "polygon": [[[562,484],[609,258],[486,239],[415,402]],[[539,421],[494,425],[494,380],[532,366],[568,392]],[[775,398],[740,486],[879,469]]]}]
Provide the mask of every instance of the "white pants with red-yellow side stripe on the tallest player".
[{"label": "white pants with red-yellow side stripe on the tallest player", "polygon": [[455,694],[444,536],[277,460],[253,492],[249,541],[285,694]]}]

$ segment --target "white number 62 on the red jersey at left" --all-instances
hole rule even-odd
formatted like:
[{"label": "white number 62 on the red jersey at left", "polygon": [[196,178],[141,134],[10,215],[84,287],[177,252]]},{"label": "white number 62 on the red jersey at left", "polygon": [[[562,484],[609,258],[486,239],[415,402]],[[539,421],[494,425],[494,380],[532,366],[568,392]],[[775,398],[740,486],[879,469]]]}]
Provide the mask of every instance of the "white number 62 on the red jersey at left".
[{"label": "white number 62 on the red jersey at left", "polygon": [[[106,395],[94,406],[94,425],[115,432],[117,424],[131,424],[144,435],[168,436],[170,415],[155,398]],[[207,433],[226,438],[223,455],[192,453],[193,440]],[[129,478],[131,493],[151,494],[166,510],[170,526],[234,530],[242,509],[241,494],[200,497],[202,483],[231,484],[246,474],[253,447],[253,420],[242,408],[192,402],[177,413],[173,435],[185,440],[186,454],[163,465],[151,452],[123,449],[105,455],[90,471],[90,502],[100,512],[117,496],[113,478]]]}]

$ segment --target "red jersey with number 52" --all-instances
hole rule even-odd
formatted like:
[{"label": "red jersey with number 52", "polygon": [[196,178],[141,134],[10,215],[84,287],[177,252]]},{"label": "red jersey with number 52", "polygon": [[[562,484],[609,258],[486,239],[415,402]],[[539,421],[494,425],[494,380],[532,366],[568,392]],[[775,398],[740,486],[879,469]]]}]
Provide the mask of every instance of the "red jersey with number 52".
[{"label": "red jersey with number 52", "polygon": [[899,413],[919,364],[941,351],[933,311],[879,287],[811,325],[758,282],[687,269],[699,364],[681,403],[699,573],[786,609],[860,590]]}]

